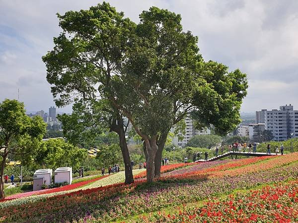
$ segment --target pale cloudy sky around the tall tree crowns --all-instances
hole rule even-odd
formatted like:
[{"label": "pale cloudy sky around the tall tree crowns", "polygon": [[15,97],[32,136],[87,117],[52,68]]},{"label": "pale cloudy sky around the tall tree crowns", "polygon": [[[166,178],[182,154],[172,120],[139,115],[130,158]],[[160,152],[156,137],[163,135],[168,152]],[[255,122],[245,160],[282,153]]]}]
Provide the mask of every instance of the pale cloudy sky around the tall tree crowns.
[{"label": "pale cloudy sky around the tall tree crowns", "polygon": [[[41,56],[61,32],[56,13],[87,9],[96,0],[0,0],[0,101],[19,99],[27,111],[54,105]],[[205,60],[245,72],[241,111],[298,110],[298,0],[109,0],[139,22],[154,5],[182,16],[184,30],[199,37]],[[71,108],[60,111],[71,112]]]}]

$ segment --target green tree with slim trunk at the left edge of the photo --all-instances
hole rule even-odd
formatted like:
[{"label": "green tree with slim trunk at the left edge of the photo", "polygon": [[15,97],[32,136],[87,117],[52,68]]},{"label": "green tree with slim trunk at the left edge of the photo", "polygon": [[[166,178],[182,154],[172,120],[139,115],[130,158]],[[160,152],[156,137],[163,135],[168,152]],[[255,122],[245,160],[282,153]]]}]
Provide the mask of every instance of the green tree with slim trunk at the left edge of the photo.
[{"label": "green tree with slim trunk at the left edge of the photo", "polygon": [[4,198],[4,168],[7,159],[31,163],[46,132],[41,117],[30,118],[24,104],[5,99],[0,103],[0,199]]}]

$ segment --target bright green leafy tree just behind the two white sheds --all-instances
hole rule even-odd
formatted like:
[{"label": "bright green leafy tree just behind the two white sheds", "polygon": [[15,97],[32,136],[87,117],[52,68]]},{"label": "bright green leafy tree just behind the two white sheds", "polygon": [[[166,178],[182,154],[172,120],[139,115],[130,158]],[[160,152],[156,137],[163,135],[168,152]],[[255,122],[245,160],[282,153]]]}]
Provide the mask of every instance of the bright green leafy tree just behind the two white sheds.
[{"label": "bright green leafy tree just behind the two white sheds", "polygon": [[63,139],[49,139],[41,145],[36,156],[36,163],[54,169],[57,167],[73,167],[75,169],[86,157],[86,149],[75,147]]}]

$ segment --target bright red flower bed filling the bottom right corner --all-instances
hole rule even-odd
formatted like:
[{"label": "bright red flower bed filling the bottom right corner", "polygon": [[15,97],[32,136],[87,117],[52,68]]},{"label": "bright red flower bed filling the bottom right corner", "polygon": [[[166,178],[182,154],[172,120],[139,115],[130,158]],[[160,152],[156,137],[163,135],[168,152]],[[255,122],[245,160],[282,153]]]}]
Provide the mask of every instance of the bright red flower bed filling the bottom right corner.
[{"label": "bright red flower bed filling the bottom right corner", "polygon": [[230,195],[226,199],[210,200],[202,207],[177,208],[174,214],[158,212],[140,218],[138,223],[291,223],[298,221],[298,180],[287,185],[266,186],[246,194]]}]

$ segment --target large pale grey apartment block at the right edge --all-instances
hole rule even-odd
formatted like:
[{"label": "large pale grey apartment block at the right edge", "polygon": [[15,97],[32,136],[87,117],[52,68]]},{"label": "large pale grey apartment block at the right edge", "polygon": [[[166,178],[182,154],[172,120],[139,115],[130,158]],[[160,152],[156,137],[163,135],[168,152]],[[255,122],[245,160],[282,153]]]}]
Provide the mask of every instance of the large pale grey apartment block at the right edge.
[{"label": "large pale grey apartment block at the right edge", "polygon": [[280,106],[280,110],[265,111],[265,129],[272,132],[276,141],[297,138],[298,111],[291,104]]}]

